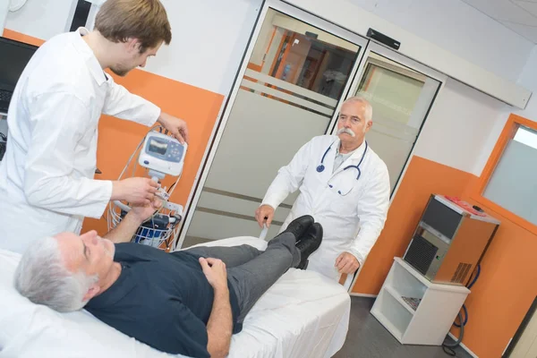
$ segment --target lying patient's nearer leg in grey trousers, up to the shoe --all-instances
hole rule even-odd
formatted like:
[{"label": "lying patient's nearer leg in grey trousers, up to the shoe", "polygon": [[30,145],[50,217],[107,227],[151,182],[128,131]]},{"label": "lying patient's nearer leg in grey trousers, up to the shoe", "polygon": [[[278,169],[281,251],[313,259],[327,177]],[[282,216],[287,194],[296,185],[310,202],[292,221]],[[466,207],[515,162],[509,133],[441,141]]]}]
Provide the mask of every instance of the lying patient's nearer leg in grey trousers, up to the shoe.
[{"label": "lying patient's nearer leg in grey trousers, up to the shoe", "polygon": [[294,234],[283,233],[269,241],[267,250],[254,259],[227,270],[227,277],[239,300],[239,323],[243,322],[254,303],[287,269],[298,266],[300,255],[295,246]]}]

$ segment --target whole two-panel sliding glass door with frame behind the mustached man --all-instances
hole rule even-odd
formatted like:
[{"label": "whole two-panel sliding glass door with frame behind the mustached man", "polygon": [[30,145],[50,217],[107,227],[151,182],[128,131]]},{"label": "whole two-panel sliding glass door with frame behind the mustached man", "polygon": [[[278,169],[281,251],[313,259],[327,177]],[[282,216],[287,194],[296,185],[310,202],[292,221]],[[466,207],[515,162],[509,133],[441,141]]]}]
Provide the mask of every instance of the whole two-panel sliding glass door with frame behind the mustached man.
[{"label": "whole two-panel sliding glass door with frame behind the mustached man", "polygon": [[[259,236],[254,211],[312,137],[336,131],[345,98],[371,101],[371,149],[388,165],[392,193],[404,174],[443,75],[291,5],[268,1],[237,74],[177,248]],[[279,231],[298,192],[277,209]]]}]

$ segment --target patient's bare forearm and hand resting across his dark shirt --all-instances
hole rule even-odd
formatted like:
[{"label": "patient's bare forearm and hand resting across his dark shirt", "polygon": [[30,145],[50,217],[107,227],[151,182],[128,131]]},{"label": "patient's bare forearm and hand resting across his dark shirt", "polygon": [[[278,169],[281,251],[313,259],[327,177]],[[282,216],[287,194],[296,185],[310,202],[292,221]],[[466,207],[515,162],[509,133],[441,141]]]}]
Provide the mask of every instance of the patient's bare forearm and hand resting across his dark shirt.
[{"label": "patient's bare forearm and hand resting across his dark shirt", "polygon": [[212,311],[207,322],[207,335],[209,337],[207,350],[211,358],[224,358],[229,353],[233,334],[233,316],[229,302],[226,264],[221,260],[211,258],[200,258],[200,264],[210,286],[213,286],[215,294]]}]

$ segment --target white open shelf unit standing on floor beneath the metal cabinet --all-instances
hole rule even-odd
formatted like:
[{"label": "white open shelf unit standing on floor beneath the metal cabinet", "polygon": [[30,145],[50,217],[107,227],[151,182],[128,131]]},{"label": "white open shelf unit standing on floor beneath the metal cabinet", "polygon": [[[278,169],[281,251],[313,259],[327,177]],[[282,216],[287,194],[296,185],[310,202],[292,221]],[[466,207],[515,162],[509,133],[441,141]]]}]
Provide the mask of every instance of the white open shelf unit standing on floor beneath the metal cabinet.
[{"label": "white open shelf unit standing on floor beneath the metal cabinet", "polygon": [[[395,258],[371,314],[403,345],[442,345],[468,294],[465,286],[434,284]],[[403,297],[421,301],[414,311]]]}]

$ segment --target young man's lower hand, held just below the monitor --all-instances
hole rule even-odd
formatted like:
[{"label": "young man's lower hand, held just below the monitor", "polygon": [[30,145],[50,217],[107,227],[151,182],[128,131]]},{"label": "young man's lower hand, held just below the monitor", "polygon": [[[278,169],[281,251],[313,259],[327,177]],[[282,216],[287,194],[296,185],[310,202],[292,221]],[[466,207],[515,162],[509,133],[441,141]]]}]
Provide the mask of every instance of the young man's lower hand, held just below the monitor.
[{"label": "young man's lower hand, held just below the monitor", "polygon": [[155,199],[158,183],[149,178],[128,178],[112,184],[111,200],[125,200],[133,206],[149,205]]}]

